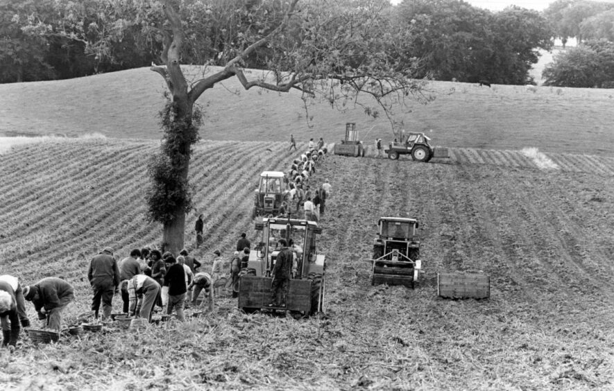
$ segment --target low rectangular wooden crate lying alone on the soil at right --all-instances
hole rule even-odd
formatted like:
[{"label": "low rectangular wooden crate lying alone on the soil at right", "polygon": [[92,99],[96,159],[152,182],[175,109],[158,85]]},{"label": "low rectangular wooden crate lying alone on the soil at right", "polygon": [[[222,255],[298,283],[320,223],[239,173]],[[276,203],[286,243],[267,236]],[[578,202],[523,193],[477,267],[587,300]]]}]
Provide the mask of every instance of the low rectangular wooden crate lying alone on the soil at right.
[{"label": "low rectangular wooden crate lying alone on the soil at right", "polygon": [[437,295],[449,299],[487,299],[491,277],[481,273],[437,273]]}]

